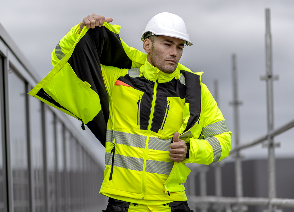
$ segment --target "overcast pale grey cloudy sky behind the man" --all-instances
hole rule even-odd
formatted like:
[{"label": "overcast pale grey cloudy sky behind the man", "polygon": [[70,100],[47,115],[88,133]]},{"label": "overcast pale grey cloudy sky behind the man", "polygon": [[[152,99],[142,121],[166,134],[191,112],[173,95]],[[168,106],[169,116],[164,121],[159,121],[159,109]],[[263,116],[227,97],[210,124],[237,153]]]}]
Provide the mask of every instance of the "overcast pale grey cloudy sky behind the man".
[{"label": "overcast pale grey cloudy sky behind the man", "polygon": [[[202,81],[214,95],[219,85],[219,107],[234,132],[231,54],[237,54],[241,143],[267,131],[265,81],[265,8],[270,8],[273,38],[275,127],[294,119],[294,1],[293,0],[193,0],[193,1],[39,1],[10,0],[0,3],[0,23],[41,78],[52,69],[50,54],[59,40],[89,14],[113,18],[121,38],[143,51],[141,33],[157,13],[170,12],[185,21],[193,46],[185,47],[180,60],[193,71],[204,71]],[[79,126],[78,126],[79,127]],[[87,130],[89,132],[89,130]],[[104,158],[92,136],[83,134]],[[294,129],[275,140],[278,156],[294,156]],[[234,146],[234,137],[232,147]],[[246,158],[266,157],[261,145],[243,152]]]}]

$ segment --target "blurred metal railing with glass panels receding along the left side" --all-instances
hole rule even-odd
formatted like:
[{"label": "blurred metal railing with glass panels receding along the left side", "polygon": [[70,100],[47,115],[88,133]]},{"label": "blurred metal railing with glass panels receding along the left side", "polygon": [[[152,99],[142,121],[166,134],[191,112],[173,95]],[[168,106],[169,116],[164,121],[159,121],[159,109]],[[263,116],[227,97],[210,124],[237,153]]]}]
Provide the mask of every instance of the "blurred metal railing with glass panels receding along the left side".
[{"label": "blurred metal railing with glass panels receding along the left side", "polygon": [[0,211],[101,211],[104,167],[63,112],[27,95],[40,80],[0,24]]}]

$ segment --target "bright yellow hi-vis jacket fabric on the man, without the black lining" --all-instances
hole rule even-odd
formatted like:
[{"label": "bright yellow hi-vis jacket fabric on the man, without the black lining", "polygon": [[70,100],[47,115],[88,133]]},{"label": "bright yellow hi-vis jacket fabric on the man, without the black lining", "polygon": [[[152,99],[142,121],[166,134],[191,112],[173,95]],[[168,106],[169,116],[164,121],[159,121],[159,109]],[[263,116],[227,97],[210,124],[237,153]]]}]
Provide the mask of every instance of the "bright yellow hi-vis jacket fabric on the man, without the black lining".
[{"label": "bright yellow hi-vis jacket fabric on the man, without the black lining", "polygon": [[[119,26],[108,23],[103,26],[119,33]],[[91,85],[81,81],[67,62],[88,28],[80,35],[78,31],[79,25],[76,25],[59,42],[51,55],[54,68],[29,94],[86,124],[101,107]],[[132,69],[101,64],[109,119],[100,194],[146,205],[186,201],[184,183],[191,170],[185,163],[210,164],[227,157],[232,133],[208,88],[201,83],[202,72],[193,73],[178,64],[174,73],[163,73],[148,63],[146,54],[128,47],[122,40],[121,44],[133,61]],[[194,76],[198,79],[197,85],[189,81]],[[182,94],[166,97],[159,93],[170,83],[181,88],[186,86],[186,97]],[[199,92],[197,105],[191,90]],[[165,105],[160,118],[156,102]],[[198,108],[197,111],[194,108]],[[192,119],[195,114],[198,114],[197,120]],[[154,120],[157,119],[161,121],[156,128],[158,123]],[[173,162],[169,157],[171,138],[176,131],[190,144],[189,158],[182,163]]]}]

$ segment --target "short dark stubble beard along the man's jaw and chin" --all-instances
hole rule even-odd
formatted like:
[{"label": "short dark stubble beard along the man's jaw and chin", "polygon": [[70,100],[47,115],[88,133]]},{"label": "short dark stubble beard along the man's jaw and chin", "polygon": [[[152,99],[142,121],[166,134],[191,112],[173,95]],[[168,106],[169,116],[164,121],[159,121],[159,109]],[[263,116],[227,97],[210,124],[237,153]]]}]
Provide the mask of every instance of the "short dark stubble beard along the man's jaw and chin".
[{"label": "short dark stubble beard along the man's jaw and chin", "polygon": [[151,46],[151,54],[150,54],[150,60],[151,63],[158,68],[159,70],[161,70],[164,73],[173,73],[174,71],[176,71],[177,66],[178,66],[178,62],[174,65],[170,64],[169,66],[166,66],[165,62],[168,59],[173,59],[173,58],[164,58],[163,61],[160,61],[158,58],[159,54],[156,52],[156,50],[154,49],[153,43]]}]

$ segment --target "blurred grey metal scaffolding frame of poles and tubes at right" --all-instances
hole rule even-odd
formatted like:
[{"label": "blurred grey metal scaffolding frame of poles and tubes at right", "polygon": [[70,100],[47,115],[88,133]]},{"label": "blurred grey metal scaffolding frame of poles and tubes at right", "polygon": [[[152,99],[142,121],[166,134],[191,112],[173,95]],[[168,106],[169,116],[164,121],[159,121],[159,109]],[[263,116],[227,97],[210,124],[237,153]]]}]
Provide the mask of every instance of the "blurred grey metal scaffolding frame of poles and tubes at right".
[{"label": "blurred grey metal scaffolding frame of poles and tubes at right", "polygon": [[[201,209],[201,212],[206,212],[209,204],[213,205],[215,211],[226,212],[236,211],[244,212],[248,210],[248,205],[251,206],[268,206],[268,209],[265,212],[281,212],[281,209],[277,209],[277,206],[290,207],[294,208],[294,199],[283,199],[276,198],[276,179],[275,179],[275,147],[280,146],[279,143],[274,142],[274,137],[291,129],[294,127],[294,119],[279,128],[274,129],[274,112],[273,112],[273,81],[278,80],[278,76],[273,75],[272,70],[272,40],[270,33],[270,9],[265,9],[265,54],[266,54],[266,72],[264,76],[260,76],[261,80],[266,81],[266,96],[267,96],[267,134],[260,136],[252,141],[249,141],[244,144],[239,142],[239,118],[238,118],[238,106],[242,104],[238,100],[237,92],[237,68],[236,68],[236,55],[232,55],[232,64],[233,64],[233,101],[230,102],[233,105],[234,110],[234,126],[235,126],[235,144],[236,147],[231,150],[230,154],[235,158],[235,181],[236,181],[236,197],[223,197],[221,196],[221,165],[222,163],[218,162],[215,166],[215,180],[216,180],[216,196],[206,196],[206,191],[200,192],[201,196],[189,195],[188,199],[190,204],[197,206]],[[217,86],[217,83],[215,83]],[[215,88],[217,90],[217,88]],[[217,94],[217,93],[216,93]],[[259,198],[259,197],[243,197],[243,187],[242,187],[242,156],[240,151],[249,148],[255,145],[258,145],[264,141],[263,147],[268,148],[268,198]],[[200,185],[206,184],[205,173],[207,172],[208,167],[204,169],[205,165],[200,165],[193,170],[195,172],[200,172]],[[205,172],[203,171],[205,170]],[[194,177],[195,179],[195,177]],[[190,179],[191,182],[191,179]],[[195,184],[195,183],[193,183]],[[194,192],[195,193],[195,192]],[[233,206],[233,207],[231,207]]]}]

